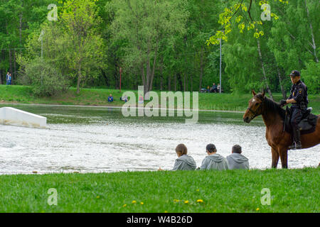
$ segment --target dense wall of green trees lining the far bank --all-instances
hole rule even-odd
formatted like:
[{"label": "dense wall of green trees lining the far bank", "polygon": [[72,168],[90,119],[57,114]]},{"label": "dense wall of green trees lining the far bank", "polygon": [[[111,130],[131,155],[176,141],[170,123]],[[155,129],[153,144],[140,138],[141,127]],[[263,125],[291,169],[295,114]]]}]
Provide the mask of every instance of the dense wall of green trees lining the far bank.
[{"label": "dense wall of green trees lining the far bank", "polygon": [[[223,38],[225,92],[249,92],[269,84],[272,92],[283,89],[285,93],[291,87],[286,77],[289,72],[306,70],[310,60],[319,62],[316,0],[252,1],[251,7],[250,0],[0,3],[0,23],[4,25],[0,28],[2,82],[12,70],[14,84],[28,84],[20,73],[23,69],[18,70],[23,65],[15,60],[19,55],[32,62],[41,56],[41,31],[43,60],[59,69],[78,90],[119,88],[119,67],[122,89],[137,89],[148,84],[148,79],[149,89],[162,90],[198,91],[213,82],[218,84],[219,45],[206,45],[206,40],[217,34],[216,38]],[[47,20],[50,3],[58,6],[58,21]],[[270,4],[270,12],[261,9],[265,3]],[[263,10],[270,13],[271,21],[261,21]],[[220,32],[223,30],[225,33]]]}]

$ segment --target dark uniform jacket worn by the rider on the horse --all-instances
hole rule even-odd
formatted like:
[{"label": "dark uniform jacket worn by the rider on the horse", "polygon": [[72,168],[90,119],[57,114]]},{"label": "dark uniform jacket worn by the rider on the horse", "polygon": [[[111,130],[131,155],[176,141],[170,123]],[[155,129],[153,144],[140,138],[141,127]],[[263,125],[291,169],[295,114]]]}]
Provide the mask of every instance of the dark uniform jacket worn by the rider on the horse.
[{"label": "dark uniform jacket worn by the rider on the horse", "polygon": [[289,99],[294,99],[297,101],[296,103],[292,104],[292,108],[301,110],[306,109],[309,103],[307,90],[306,84],[304,84],[301,80],[292,85]]}]

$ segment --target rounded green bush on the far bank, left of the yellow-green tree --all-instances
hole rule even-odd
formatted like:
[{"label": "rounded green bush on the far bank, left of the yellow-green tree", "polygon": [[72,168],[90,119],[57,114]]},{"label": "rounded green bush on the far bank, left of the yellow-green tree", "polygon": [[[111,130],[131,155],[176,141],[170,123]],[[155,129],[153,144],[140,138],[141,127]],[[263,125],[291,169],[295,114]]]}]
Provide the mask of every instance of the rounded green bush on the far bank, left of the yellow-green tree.
[{"label": "rounded green bush on the far bank, left of the yellow-green tree", "polygon": [[63,77],[60,70],[41,58],[24,65],[22,78],[21,82],[30,84],[36,96],[54,96],[68,89],[68,79]]}]

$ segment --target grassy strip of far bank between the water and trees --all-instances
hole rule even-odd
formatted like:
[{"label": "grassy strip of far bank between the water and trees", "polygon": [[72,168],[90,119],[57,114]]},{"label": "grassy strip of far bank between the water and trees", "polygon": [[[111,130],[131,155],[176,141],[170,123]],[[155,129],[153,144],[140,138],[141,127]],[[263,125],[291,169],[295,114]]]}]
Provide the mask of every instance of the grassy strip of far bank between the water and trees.
[{"label": "grassy strip of far bank between the water and trees", "polygon": [[[83,106],[122,106],[120,96],[129,90],[117,89],[81,89],[76,94],[76,89],[71,87],[68,92],[60,96],[37,97],[33,96],[31,87],[0,85],[0,104],[58,104],[58,105],[83,105]],[[131,91],[131,90],[130,90]],[[132,91],[137,96],[137,91]],[[160,94],[160,92],[158,92]],[[107,101],[107,96],[112,94],[114,101]],[[281,94],[273,94],[274,99],[282,99]],[[191,95],[192,96],[192,95]],[[198,108],[201,110],[220,111],[245,111],[251,94],[206,94],[199,93]],[[309,102],[314,114],[320,114],[320,96],[310,95]],[[161,107],[161,106],[159,106]],[[191,106],[192,108],[192,106]]]}]

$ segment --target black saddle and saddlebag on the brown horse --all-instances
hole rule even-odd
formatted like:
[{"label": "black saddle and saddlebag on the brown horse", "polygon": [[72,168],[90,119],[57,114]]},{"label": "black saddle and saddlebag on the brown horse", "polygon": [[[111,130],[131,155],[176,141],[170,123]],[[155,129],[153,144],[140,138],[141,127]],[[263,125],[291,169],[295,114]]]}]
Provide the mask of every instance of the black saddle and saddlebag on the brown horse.
[{"label": "black saddle and saddlebag on the brown horse", "polygon": [[[311,114],[311,111],[311,107],[306,109],[302,116],[302,121],[300,121],[300,123],[298,124],[301,135],[313,133],[314,131],[316,131],[316,121],[318,120],[318,116]],[[292,134],[292,126],[290,124],[291,116],[292,111],[287,106],[286,117],[284,119],[284,131],[287,131],[287,133],[290,134]]]}]

